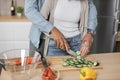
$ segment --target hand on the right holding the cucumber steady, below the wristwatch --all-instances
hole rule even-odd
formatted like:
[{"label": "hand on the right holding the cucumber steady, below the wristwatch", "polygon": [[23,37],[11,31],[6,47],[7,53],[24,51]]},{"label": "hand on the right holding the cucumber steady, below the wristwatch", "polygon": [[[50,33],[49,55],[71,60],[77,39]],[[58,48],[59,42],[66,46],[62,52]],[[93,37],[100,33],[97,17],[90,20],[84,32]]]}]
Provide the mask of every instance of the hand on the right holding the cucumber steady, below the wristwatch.
[{"label": "hand on the right holding the cucumber steady, below the wristwatch", "polygon": [[92,42],[93,42],[92,34],[87,33],[82,39],[82,44],[80,49],[81,56],[85,57],[87,55],[87,53],[90,51]]}]

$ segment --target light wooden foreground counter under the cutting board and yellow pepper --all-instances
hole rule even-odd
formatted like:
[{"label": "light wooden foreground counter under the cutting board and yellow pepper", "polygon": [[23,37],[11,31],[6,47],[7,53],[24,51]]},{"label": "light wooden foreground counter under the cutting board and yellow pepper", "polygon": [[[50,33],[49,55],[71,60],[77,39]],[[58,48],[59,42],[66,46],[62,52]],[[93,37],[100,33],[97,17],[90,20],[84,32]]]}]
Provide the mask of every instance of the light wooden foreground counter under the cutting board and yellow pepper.
[{"label": "light wooden foreground counter under the cutting board and yellow pepper", "polygon": [[[51,58],[63,58],[60,57],[49,57]],[[97,79],[96,80],[120,80],[120,53],[104,53],[104,54],[91,54],[87,58],[94,58],[100,61],[101,69],[96,69]],[[60,80],[80,80],[79,70],[74,71],[61,71]],[[2,72],[0,80],[11,80],[9,75],[5,71]],[[40,80],[40,74],[34,75],[30,80]]]}]

